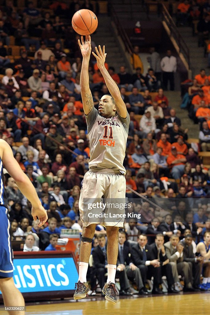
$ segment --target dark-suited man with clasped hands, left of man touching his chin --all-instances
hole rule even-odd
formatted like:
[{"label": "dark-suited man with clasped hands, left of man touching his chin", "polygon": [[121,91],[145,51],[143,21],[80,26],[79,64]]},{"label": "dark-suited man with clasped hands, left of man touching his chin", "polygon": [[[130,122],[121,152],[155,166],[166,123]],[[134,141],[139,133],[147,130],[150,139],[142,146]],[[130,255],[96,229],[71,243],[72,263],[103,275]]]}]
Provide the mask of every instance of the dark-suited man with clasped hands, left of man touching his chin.
[{"label": "dark-suited man with clasped hands, left of man touching his chin", "polygon": [[145,234],[139,235],[138,244],[132,248],[133,263],[140,269],[144,286],[146,280],[154,278],[153,294],[162,294],[162,290],[159,289],[161,280],[160,261],[158,259],[150,260],[150,246],[147,245],[147,236]]}]

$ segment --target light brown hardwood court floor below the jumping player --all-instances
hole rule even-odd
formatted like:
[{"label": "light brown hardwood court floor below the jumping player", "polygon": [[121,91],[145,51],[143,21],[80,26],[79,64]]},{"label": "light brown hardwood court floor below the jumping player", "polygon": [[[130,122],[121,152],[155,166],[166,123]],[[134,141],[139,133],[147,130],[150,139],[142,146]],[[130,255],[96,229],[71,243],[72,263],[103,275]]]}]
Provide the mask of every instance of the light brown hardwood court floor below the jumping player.
[{"label": "light brown hardwood court floor below the jumping player", "polygon": [[210,292],[142,298],[132,296],[119,299],[116,305],[104,299],[94,301],[90,298],[58,304],[26,304],[26,315],[209,315],[209,310]]}]

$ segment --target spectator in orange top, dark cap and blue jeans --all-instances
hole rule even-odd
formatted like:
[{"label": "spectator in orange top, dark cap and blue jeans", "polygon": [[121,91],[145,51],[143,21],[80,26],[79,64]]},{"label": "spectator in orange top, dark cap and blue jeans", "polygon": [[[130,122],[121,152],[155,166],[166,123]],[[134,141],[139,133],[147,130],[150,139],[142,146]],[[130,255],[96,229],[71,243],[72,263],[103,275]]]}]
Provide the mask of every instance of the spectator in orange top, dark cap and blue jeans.
[{"label": "spectator in orange top, dark cap and blue jeans", "polygon": [[184,174],[184,163],[186,157],[183,154],[178,154],[175,146],[171,147],[171,153],[167,157],[168,166],[171,168],[171,174],[174,179],[180,179]]}]

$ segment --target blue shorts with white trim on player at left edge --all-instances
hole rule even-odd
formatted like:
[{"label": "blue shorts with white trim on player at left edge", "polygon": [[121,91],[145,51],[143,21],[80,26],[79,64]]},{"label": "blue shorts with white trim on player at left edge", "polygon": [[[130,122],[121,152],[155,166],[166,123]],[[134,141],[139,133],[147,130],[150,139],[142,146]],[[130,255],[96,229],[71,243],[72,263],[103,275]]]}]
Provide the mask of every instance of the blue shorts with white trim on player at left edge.
[{"label": "blue shorts with white trim on player at left edge", "polygon": [[8,210],[0,206],[0,276],[3,278],[13,277],[12,247],[10,240],[10,223],[8,219]]}]

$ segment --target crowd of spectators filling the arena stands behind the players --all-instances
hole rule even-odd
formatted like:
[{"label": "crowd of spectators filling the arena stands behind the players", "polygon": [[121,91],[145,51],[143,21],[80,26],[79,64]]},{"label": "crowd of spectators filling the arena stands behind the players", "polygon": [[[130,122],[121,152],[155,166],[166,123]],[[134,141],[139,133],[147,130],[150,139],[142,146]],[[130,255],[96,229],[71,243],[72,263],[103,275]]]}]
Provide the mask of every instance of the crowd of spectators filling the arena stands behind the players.
[{"label": "crowd of spectators filling the arena stands behind the players", "polygon": [[[52,16],[44,11],[45,1],[38,9],[28,2],[23,10],[16,8],[14,3],[7,1],[6,6],[1,7],[0,72],[3,78],[0,86],[0,137],[11,146],[21,169],[36,188],[49,219],[43,228],[38,228],[37,221],[33,221],[31,216],[31,204],[21,194],[14,179],[5,172],[12,239],[25,239],[24,251],[56,250],[58,238],[64,229],[82,231],[78,200],[82,179],[88,170],[89,139],[79,86],[82,64],[77,44],[79,36],[72,30],[70,20],[79,8],[93,8],[89,1],[73,1],[70,8],[68,4],[61,6],[60,2],[53,1],[49,3]],[[20,56],[14,60],[9,58],[9,36],[14,36],[16,46],[21,46]],[[153,293],[159,294],[162,293],[158,289],[159,284],[166,272],[167,279],[173,278],[173,281],[168,280],[171,281],[168,282],[168,292],[173,293],[182,289],[177,273],[180,272],[186,280],[186,272],[184,274],[182,269],[186,271],[190,267],[182,260],[179,266],[185,266],[185,269],[178,268],[176,271],[176,266],[171,264],[165,270],[163,266],[167,266],[167,263],[164,262],[161,274],[160,269],[154,268],[159,267],[159,256],[150,252],[148,247],[148,257],[140,259],[150,261],[149,266],[149,263],[145,265],[139,262],[138,251],[147,243],[145,233],[148,234],[148,244],[154,245],[155,237],[152,234],[159,235],[156,242],[160,244],[171,242],[170,237],[177,242],[188,228],[190,231],[186,235],[191,239],[192,234],[195,242],[199,242],[210,227],[210,181],[208,170],[197,155],[199,147],[191,147],[187,142],[188,130],[182,128],[181,117],[176,116],[162,89],[163,86],[167,88],[168,81],[170,89],[174,89],[175,57],[167,50],[165,59],[156,59],[157,53],[151,48],[151,68],[144,77],[143,65],[135,66],[139,62],[138,52],[138,47],[135,47],[136,56],[131,57],[134,74],[128,73],[124,65],[118,74],[112,65],[106,64],[106,67],[120,88],[131,118],[124,160],[127,187],[153,200],[154,204],[161,204],[161,208],[151,206],[145,199],[142,202],[127,188],[127,203],[134,198],[131,212],[141,214],[141,217],[137,220],[127,219],[124,230],[119,234],[119,244],[128,246],[127,254],[133,242],[134,254],[131,255],[133,261],[129,262],[127,256],[123,261],[119,249],[117,278],[121,281],[122,295],[132,294],[128,279],[135,279],[140,294],[147,294],[144,277],[150,279],[153,276]],[[173,61],[171,69],[167,66],[169,58]],[[154,60],[157,62],[154,63]],[[89,80],[97,108],[100,97],[109,91],[94,61],[91,59],[90,62]],[[194,85],[196,89],[196,81]],[[207,83],[204,87],[207,90]],[[197,90],[200,93],[200,87]],[[190,93],[193,92],[191,88]],[[200,116],[198,118],[201,119]],[[200,139],[203,137],[207,140],[210,135],[207,123],[202,121]],[[210,140],[203,139],[201,148],[208,150]],[[129,242],[124,231],[129,235]],[[97,249],[93,249],[93,268],[97,273],[91,268],[89,272],[92,288],[96,278],[102,286],[106,273],[100,272],[100,268],[106,271],[103,254],[105,228],[96,226],[96,235],[98,242],[94,238],[93,247]],[[166,247],[167,251],[167,245],[162,245],[160,248],[164,257],[163,248]],[[98,261],[100,255],[94,254],[97,251],[102,254],[102,262]],[[181,254],[181,247],[177,251],[180,252],[177,258],[185,257]],[[168,252],[167,259],[170,260],[169,256]],[[155,274],[156,270],[158,272]],[[172,278],[169,276],[171,274]],[[192,281],[185,284],[186,290],[198,288],[198,281]]]}]

